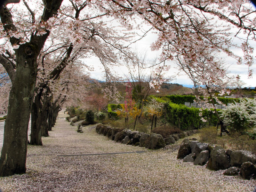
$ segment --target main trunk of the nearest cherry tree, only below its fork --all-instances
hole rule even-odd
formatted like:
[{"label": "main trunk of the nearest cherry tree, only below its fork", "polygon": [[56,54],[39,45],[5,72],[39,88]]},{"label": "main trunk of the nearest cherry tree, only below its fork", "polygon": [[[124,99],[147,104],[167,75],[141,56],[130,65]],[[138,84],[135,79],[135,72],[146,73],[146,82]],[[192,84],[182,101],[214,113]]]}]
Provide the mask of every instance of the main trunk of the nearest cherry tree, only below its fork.
[{"label": "main trunk of the nearest cherry tree, only below its fork", "polygon": [[[8,116],[4,125],[4,143],[0,158],[0,176],[26,172],[28,122],[34,98],[38,54],[30,44],[18,49],[16,76],[10,92]],[[28,52],[22,50],[30,50]]]}]

